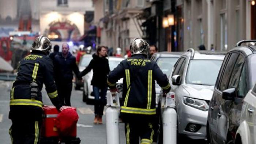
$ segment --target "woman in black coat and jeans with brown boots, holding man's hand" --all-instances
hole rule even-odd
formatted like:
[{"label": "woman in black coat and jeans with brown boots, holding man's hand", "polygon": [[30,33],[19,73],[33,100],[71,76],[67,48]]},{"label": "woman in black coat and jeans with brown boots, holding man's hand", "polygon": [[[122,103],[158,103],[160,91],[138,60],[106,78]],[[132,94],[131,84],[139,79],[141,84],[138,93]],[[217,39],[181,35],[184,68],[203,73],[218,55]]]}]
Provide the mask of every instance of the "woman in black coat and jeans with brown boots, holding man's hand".
[{"label": "woman in black coat and jeans with brown boots, holding man's hand", "polygon": [[[95,104],[94,104],[94,124],[102,124],[102,115],[105,105],[105,96],[108,90],[107,78],[110,72],[109,61],[106,58],[107,48],[105,46],[98,46],[97,52],[93,54],[93,59],[89,65],[80,73],[80,77],[86,75],[93,69],[93,79],[91,85],[93,86]],[[99,99],[101,97],[101,99]]]}]

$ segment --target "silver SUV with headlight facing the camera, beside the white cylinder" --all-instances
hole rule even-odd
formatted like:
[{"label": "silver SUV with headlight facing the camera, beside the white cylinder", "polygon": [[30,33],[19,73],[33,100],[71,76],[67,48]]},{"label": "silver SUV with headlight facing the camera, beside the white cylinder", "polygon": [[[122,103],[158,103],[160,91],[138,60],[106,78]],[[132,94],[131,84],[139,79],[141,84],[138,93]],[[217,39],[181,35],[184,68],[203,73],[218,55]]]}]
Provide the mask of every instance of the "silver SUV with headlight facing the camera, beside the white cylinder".
[{"label": "silver SUV with headlight facing the camera, beside the white cylinder", "polygon": [[174,65],[169,80],[176,95],[178,138],[206,139],[208,104],[224,57],[191,48]]}]

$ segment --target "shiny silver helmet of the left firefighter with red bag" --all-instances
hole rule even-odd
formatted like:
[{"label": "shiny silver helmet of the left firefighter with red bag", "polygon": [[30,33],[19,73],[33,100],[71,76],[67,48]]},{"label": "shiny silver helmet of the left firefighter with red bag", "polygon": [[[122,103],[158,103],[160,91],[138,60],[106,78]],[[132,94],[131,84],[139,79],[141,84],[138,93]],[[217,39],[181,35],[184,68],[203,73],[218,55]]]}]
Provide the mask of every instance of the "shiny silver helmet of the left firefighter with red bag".
[{"label": "shiny silver helmet of the left firefighter with red bag", "polygon": [[33,42],[31,49],[44,52],[45,54],[49,54],[52,49],[52,43],[50,42],[49,38],[45,37],[44,35],[41,35],[35,38],[35,41]]}]

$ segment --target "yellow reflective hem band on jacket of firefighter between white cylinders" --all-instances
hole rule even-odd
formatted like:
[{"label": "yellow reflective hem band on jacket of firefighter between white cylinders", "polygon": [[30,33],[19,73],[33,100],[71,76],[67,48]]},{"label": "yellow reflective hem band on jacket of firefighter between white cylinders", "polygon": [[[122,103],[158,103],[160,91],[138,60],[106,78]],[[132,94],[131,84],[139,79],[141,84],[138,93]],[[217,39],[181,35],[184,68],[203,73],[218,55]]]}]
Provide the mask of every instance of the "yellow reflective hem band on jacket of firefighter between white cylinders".
[{"label": "yellow reflective hem band on jacket of firefighter between white cylinders", "polygon": [[121,107],[121,112],[132,113],[132,114],[147,114],[147,115],[156,114],[155,109],[142,109],[142,108],[125,107],[125,106]]}]

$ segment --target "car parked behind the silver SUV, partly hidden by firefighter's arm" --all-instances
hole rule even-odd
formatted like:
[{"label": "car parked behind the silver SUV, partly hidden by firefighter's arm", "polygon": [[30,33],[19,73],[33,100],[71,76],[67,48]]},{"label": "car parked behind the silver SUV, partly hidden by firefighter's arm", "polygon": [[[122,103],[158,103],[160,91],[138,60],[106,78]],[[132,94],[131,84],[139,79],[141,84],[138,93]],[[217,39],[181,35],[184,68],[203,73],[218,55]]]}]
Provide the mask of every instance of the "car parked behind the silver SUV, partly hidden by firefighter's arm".
[{"label": "car parked behind the silver SUV, partly hidden by firefighter's arm", "polygon": [[[184,52],[158,52],[153,54],[151,60],[155,61],[158,67],[163,71],[163,73],[165,73],[166,76],[169,77],[172,72],[173,65],[182,54],[184,54]],[[161,104],[159,103],[160,91],[161,87],[157,84],[157,82],[155,82],[155,102],[157,107],[161,106]]]}]

